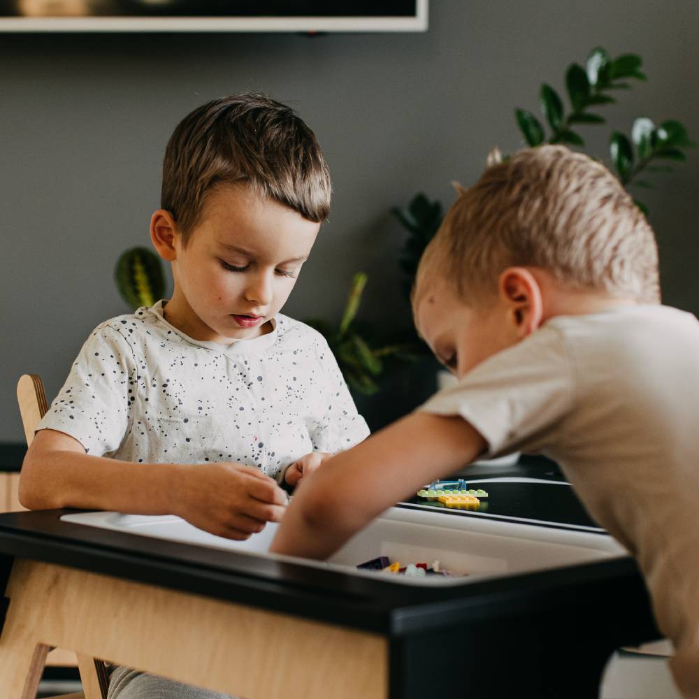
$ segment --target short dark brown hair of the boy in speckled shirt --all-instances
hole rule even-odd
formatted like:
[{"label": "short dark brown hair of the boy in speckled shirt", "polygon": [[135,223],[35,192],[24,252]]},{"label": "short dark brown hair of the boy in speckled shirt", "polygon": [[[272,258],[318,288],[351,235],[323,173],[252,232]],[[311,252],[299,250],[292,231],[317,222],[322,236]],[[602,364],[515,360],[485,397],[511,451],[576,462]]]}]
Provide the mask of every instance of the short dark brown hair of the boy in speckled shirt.
[{"label": "short dark brown hair of the boy in speckled shirt", "polygon": [[262,94],[212,100],[175,127],[161,208],[178,222],[185,245],[208,192],[221,183],[244,184],[315,223],[330,210],[330,173],[315,134],[294,110]]}]

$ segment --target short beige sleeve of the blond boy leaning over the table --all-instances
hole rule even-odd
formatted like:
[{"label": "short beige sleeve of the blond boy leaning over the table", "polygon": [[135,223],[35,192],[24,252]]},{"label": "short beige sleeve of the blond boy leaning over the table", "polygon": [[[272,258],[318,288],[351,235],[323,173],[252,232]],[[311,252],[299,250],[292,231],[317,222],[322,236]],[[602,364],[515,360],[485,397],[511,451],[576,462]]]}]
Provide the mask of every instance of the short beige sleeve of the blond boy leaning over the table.
[{"label": "short beige sleeve of the blond boy leaning over the table", "polygon": [[575,376],[559,333],[542,328],[494,354],[418,410],[460,415],[486,440],[487,456],[539,452],[570,412]]}]

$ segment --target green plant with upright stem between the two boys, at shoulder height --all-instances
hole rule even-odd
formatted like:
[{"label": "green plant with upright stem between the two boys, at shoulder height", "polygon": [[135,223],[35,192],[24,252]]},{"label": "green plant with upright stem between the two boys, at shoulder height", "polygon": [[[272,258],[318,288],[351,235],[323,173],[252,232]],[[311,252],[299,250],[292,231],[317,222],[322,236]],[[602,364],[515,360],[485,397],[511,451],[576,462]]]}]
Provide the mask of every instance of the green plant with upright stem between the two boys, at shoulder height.
[{"label": "green plant with upright stem between the two boys, at shoulder height", "polygon": [[372,395],[379,390],[379,378],[390,359],[414,359],[414,343],[380,345],[374,329],[356,319],[361,297],[366,287],[366,273],[357,272],[349,287],[347,303],[337,328],[317,319],[306,320],[322,333],[335,355],[345,381],[361,394]]}]

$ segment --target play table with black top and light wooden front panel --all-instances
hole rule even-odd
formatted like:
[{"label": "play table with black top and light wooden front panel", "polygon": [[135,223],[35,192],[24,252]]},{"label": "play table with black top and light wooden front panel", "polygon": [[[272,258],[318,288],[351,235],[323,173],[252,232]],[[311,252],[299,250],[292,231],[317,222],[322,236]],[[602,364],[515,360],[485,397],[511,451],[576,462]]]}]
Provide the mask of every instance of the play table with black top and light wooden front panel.
[{"label": "play table with black top and light wooden front panel", "polygon": [[247,699],[589,699],[614,649],[658,637],[628,558],[426,589],[64,512],[0,515],[3,699],[33,698],[51,646]]}]

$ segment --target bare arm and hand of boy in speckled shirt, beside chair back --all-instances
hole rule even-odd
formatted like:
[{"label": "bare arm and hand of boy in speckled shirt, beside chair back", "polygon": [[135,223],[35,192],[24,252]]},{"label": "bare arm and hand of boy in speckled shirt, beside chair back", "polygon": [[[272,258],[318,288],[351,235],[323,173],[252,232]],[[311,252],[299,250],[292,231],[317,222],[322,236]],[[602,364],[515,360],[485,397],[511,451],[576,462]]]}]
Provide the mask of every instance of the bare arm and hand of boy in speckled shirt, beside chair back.
[{"label": "bare arm and hand of boy in speckled shirt, beside chair back", "polygon": [[36,433],[22,464],[20,502],[30,510],[80,507],[178,514],[213,534],[245,539],[280,521],[286,493],[240,463],[132,463],[91,456],[71,436]]}]

